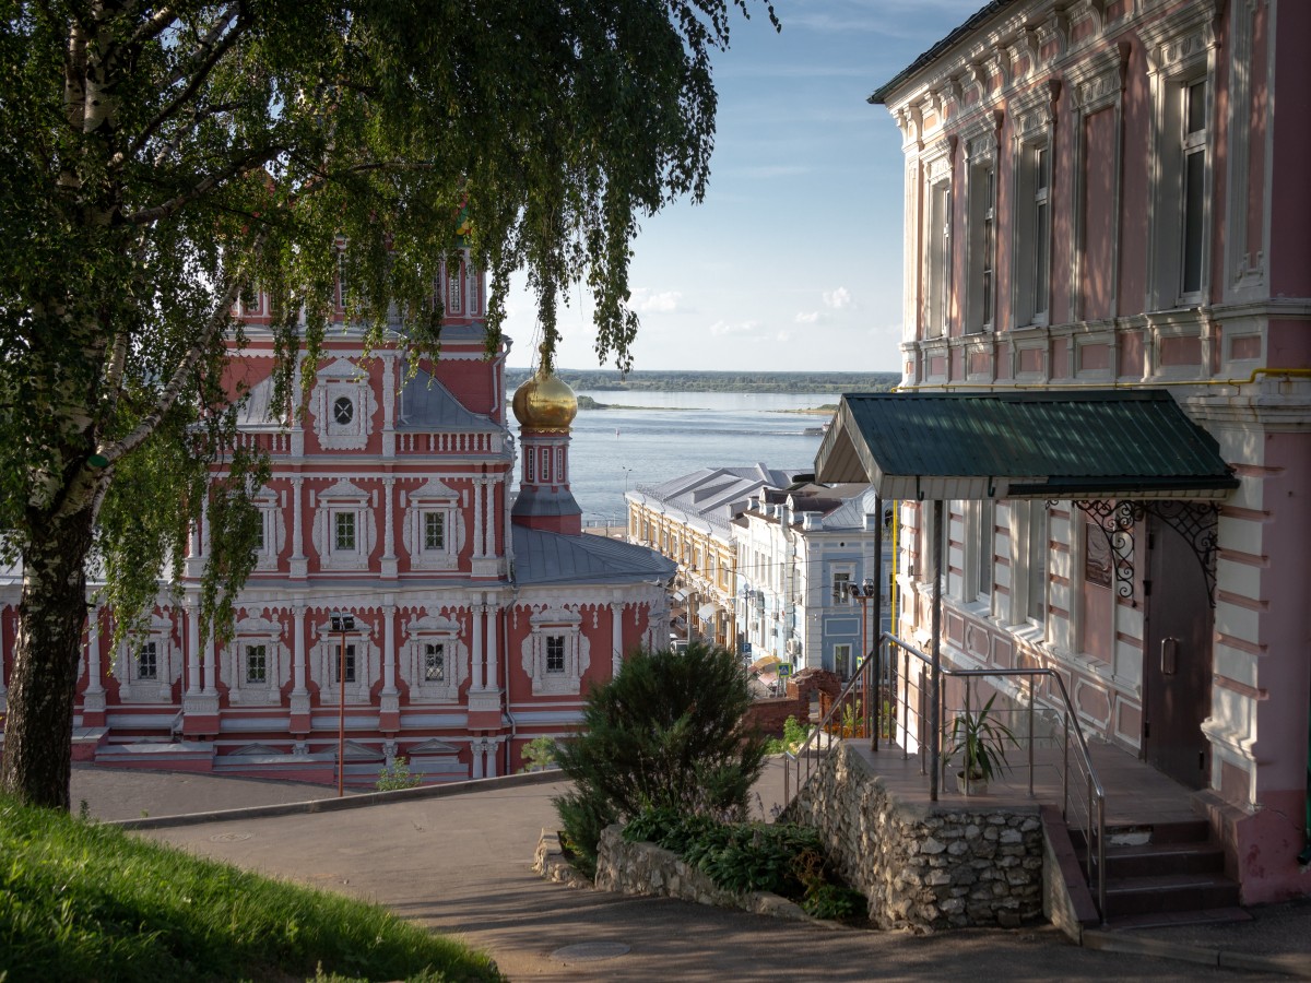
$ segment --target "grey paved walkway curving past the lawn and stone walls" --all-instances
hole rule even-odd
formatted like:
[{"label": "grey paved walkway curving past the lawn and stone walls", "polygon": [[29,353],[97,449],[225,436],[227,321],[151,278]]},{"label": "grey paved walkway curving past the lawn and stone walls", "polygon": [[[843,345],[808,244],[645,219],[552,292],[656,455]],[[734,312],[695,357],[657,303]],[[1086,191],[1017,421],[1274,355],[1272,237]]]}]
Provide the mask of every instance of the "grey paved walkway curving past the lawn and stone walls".
[{"label": "grey paved walkway curving past the lawn and stone walls", "polygon": [[[1218,969],[1214,948],[1206,948],[1214,946],[1214,928],[1203,940],[1135,933],[1126,936],[1131,952],[1096,952],[1049,927],[915,937],[549,885],[530,865],[540,830],[556,823],[551,798],[562,785],[540,777],[535,784],[494,779],[476,793],[465,785],[464,794],[416,790],[391,793],[384,803],[370,796],[338,803],[332,789],[319,786],[77,768],[72,798],[75,809],[85,800],[89,814],[104,819],[148,811],[151,819],[142,822],[155,828],[140,835],[376,900],[490,952],[514,980],[1278,978]],[[311,789],[326,801],[274,805],[311,798]],[[770,797],[762,797],[766,811]],[[215,801],[244,809],[178,823],[159,819]],[[1245,935],[1224,942],[1231,954],[1289,955],[1311,975],[1311,906],[1280,906],[1272,917],[1242,928]],[[1151,945],[1173,958],[1145,957]],[[566,946],[582,948],[561,952]],[[1200,962],[1180,961],[1189,955]]]}]

